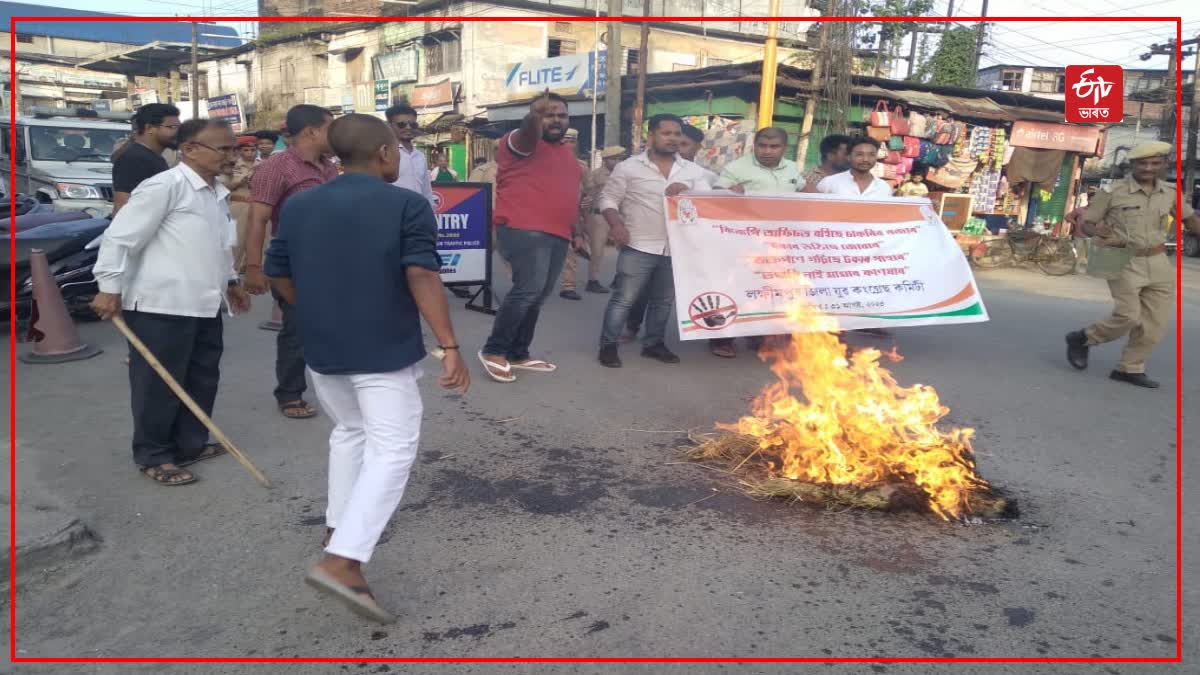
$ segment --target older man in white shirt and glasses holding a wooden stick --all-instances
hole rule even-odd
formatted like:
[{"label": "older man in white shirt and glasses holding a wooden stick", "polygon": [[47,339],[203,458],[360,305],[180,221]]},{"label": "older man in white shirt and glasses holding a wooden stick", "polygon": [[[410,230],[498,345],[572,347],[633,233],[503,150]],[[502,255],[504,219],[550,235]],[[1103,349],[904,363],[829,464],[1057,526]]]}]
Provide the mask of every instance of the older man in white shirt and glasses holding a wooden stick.
[{"label": "older man in white shirt and glasses holding a wooden stick", "polygon": [[[236,225],[217,177],[234,161],[229,125],[180,125],[180,163],[148,178],[104,232],[94,268],[103,319],[121,313],[130,329],[212,414],[222,345],[221,310],[244,312],[250,295],[233,264]],[[133,461],[161,485],[196,482],[186,465],[224,454],[208,430],[139,352],[130,348]]]}]

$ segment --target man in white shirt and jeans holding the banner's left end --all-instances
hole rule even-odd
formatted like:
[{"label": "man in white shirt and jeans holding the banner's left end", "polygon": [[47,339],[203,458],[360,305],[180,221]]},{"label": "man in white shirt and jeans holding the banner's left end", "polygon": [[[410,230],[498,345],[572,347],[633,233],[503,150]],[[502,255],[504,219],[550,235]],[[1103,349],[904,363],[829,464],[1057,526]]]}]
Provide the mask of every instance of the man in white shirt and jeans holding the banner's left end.
[{"label": "man in white shirt and jeans holding the banner's left end", "polygon": [[664,344],[674,279],[662,196],[688,190],[712,190],[704,169],[679,157],[683,120],[654,115],[649,123],[646,153],[617,165],[600,195],[600,211],[608,221],[610,238],[620,246],[617,287],[605,309],[600,333],[600,364],[620,368],[617,344],[630,307],[647,293],[642,356],[662,363],[679,363]]}]

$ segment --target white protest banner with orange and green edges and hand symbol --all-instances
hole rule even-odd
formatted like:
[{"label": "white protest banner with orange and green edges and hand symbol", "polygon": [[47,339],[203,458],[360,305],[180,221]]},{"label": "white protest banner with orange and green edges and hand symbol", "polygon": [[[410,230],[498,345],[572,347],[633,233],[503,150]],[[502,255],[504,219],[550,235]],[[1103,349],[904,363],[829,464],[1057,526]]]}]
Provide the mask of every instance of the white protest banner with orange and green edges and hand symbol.
[{"label": "white protest banner with orange and green edges and hand symbol", "polygon": [[683,340],[988,321],[966,257],[926,199],[829,195],[667,197]]}]

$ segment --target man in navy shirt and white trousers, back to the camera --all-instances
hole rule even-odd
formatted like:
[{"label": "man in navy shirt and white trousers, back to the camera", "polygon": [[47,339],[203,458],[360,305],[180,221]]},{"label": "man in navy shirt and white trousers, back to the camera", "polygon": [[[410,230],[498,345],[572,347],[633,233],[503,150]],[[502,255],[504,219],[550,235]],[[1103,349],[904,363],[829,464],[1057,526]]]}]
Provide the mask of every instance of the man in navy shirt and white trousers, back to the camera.
[{"label": "man in navy shirt and white trousers, back to the camera", "polygon": [[396,139],[382,120],[346,115],[329,129],[344,174],[292,197],[266,252],[272,287],[296,310],[313,388],[336,426],[329,438],[325,557],[306,580],[379,622],[362,563],[404,494],[421,431],[420,317],[438,340],[440,384],[466,393],[438,274],[428,201],[391,185]]}]

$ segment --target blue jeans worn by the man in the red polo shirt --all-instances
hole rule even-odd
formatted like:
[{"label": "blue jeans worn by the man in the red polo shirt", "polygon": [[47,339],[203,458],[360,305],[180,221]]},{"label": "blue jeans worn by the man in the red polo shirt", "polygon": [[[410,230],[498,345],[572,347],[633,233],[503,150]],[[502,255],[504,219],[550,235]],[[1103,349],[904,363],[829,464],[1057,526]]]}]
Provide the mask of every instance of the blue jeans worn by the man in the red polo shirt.
[{"label": "blue jeans worn by the man in the red polo shirt", "polygon": [[504,297],[492,323],[484,354],[510,362],[529,358],[541,304],[554,291],[570,243],[532,229],[498,227],[500,255],[512,265],[512,289]]}]

